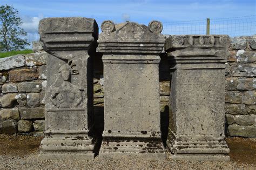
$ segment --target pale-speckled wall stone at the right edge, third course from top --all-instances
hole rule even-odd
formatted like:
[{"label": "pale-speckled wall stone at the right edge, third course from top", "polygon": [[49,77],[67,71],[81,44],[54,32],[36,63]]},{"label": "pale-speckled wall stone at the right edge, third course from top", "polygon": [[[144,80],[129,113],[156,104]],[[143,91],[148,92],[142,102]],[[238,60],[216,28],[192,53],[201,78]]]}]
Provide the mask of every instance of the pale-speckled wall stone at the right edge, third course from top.
[{"label": "pale-speckled wall stone at the right edge, third course from top", "polygon": [[234,77],[254,77],[256,75],[256,64],[239,64],[234,71]]}]

